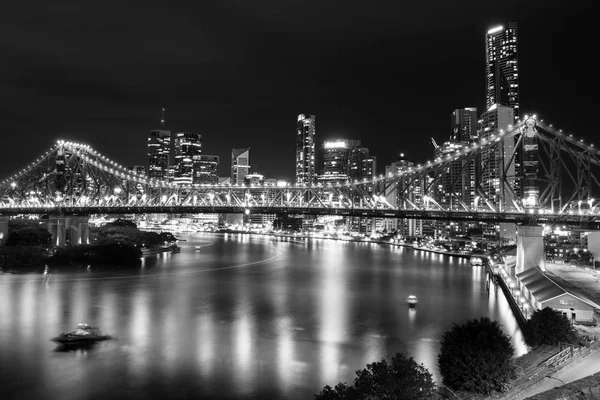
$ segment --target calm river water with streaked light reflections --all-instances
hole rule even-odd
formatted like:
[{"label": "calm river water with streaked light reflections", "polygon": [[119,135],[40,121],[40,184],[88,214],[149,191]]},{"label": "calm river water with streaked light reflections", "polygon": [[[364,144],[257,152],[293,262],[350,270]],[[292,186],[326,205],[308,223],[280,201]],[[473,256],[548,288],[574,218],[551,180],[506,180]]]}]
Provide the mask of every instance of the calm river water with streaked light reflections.
[{"label": "calm river water with streaked light reflections", "polygon": [[[312,399],[403,352],[439,380],[439,340],[504,295],[466,260],[372,243],[182,235],[141,269],[0,274],[0,398]],[[201,246],[199,250],[196,246]],[[406,297],[419,297],[409,309]],[[116,340],[56,351],[79,322]]]}]

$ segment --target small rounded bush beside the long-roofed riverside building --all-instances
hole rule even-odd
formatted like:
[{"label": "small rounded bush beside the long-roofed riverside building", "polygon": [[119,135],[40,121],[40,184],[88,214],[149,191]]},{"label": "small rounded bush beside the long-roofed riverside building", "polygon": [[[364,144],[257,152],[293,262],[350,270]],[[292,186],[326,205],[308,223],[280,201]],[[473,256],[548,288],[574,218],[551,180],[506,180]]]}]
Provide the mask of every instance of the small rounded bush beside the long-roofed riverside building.
[{"label": "small rounded bush beside the long-roofed riverside building", "polygon": [[556,345],[558,342],[576,343],[577,334],[567,317],[546,307],[531,314],[525,325],[525,342],[531,347]]}]

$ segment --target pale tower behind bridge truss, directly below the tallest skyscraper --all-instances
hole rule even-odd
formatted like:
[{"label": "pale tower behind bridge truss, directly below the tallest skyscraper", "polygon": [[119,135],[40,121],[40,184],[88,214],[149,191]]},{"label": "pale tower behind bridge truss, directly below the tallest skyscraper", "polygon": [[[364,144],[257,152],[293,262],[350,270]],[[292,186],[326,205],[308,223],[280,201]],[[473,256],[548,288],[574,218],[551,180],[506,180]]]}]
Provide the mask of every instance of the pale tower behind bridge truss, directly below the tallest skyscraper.
[{"label": "pale tower behind bridge truss, directly below the tallest skyscraper", "polygon": [[[481,115],[479,121],[480,139],[488,139],[499,130],[508,131],[509,125],[515,120],[511,107],[494,104]],[[502,139],[501,146],[481,151],[481,187],[485,196],[499,204],[501,208],[511,210],[516,208],[515,202],[519,195],[519,165],[515,162],[516,152],[514,138]],[[506,173],[508,188],[501,182],[502,171]]]}]

